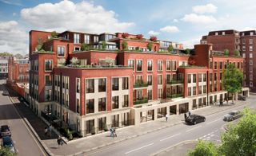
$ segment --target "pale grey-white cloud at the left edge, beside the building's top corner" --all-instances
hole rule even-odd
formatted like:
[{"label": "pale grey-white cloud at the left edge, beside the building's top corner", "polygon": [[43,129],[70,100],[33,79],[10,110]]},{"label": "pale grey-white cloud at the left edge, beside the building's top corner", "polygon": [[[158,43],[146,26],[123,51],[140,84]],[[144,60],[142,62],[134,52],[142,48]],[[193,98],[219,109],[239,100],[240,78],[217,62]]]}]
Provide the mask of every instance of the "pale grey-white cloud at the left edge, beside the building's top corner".
[{"label": "pale grey-white cloud at the left edge, beside the building's top corner", "polygon": [[17,21],[0,21],[1,52],[28,53],[28,35]]}]

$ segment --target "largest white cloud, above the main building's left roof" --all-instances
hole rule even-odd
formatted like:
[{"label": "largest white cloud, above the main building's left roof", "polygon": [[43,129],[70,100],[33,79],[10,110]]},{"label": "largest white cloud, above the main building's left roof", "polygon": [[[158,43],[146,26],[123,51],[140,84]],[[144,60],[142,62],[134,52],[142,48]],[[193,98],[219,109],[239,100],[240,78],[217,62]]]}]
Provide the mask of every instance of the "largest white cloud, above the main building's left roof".
[{"label": "largest white cloud, above the main building's left roof", "polygon": [[64,0],[58,3],[42,3],[21,10],[21,17],[38,29],[62,32],[66,29],[89,33],[129,31],[133,22],[121,22],[118,15],[91,2],[74,3]]}]

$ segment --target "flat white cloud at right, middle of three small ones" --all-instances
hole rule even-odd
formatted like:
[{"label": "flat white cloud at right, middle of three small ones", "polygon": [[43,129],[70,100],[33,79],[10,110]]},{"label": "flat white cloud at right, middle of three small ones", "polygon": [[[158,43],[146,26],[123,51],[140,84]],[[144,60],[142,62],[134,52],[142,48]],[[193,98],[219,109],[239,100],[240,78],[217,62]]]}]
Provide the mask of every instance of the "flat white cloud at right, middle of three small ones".
[{"label": "flat white cloud at right, middle of three small ones", "polygon": [[198,15],[198,14],[185,14],[182,21],[188,21],[191,23],[209,24],[216,22],[216,18],[213,16]]}]

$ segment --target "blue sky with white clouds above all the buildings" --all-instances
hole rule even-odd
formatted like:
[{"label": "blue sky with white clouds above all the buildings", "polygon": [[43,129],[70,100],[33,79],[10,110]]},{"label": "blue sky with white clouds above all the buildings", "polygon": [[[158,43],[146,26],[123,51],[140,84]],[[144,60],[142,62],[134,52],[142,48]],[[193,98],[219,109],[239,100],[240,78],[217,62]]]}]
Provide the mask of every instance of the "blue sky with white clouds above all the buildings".
[{"label": "blue sky with white clouds above all the buildings", "polygon": [[193,48],[219,29],[255,29],[254,0],[0,0],[0,52],[29,53],[31,29],[135,33]]}]

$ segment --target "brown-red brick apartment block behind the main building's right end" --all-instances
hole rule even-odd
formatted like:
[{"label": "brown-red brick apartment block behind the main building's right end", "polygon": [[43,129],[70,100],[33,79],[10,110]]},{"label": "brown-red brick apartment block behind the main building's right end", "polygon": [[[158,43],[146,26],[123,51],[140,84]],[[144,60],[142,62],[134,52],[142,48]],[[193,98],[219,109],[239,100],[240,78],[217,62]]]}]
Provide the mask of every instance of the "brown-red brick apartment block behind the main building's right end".
[{"label": "brown-red brick apartment block behind the main building's right end", "polygon": [[250,92],[256,92],[256,32],[255,30],[238,32],[236,30],[218,30],[203,36],[201,44],[213,44],[214,50],[228,49],[230,55],[234,51],[240,51],[244,61],[244,86],[250,88]]}]

